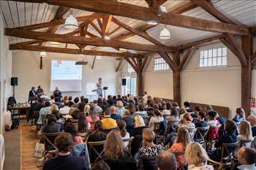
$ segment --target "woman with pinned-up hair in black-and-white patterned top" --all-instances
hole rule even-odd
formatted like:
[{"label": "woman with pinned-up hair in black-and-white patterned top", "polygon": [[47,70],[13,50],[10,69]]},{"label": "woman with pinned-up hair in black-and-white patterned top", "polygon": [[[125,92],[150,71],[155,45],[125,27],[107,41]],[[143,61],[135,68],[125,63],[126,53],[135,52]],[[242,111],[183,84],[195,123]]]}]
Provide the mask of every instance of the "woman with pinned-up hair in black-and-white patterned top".
[{"label": "woman with pinned-up hair in black-and-white patterned top", "polygon": [[156,138],[156,134],[152,129],[143,129],[143,146],[138,151],[138,159],[145,157],[156,157],[159,153],[164,151],[162,145],[155,145],[154,139]]}]

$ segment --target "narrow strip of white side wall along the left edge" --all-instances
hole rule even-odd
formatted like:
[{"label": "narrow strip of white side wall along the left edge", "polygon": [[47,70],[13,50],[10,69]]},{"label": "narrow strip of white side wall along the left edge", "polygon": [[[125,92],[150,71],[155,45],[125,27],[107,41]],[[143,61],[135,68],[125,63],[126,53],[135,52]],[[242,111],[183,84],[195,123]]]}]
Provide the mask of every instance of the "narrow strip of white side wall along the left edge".
[{"label": "narrow strip of white side wall along the left edge", "polygon": [[4,36],[4,21],[0,11],[0,134],[4,132],[3,113],[6,111],[8,97],[12,96],[10,79],[12,76],[12,52],[8,50],[9,41]]}]

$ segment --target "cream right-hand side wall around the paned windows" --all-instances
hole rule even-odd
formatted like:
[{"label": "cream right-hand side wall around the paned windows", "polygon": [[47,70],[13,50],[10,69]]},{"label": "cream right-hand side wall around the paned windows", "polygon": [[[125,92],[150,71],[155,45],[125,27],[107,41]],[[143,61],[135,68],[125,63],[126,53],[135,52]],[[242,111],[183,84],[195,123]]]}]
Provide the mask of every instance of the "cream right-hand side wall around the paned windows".
[{"label": "cream right-hand side wall around the paned windows", "polygon": [[[227,67],[199,67],[200,50],[220,46],[224,45],[212,43],[200,46],[189,57],[181,71],[182,103],[190,101],[227,106],[230,108],[230,117],[233,117],[236,108],[241,106],[241,66],[237,57],[228,50]],[[155,57],[159,56],[156,54]],[[120,74],[125,71],[127,62]],[[150,96],[173,99],[172,70],[154,71],[154,60],[150,59],[143,73],[143,81],[144,91]]]}]

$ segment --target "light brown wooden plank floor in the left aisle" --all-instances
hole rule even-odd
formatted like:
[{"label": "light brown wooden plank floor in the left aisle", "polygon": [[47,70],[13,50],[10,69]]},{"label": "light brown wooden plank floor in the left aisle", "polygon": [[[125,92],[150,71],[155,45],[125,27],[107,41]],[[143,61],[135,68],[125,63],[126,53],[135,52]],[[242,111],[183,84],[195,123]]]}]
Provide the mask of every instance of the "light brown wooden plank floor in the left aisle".
[{"label": "light brown wooden plank floor in the left aisle", "polygon": [[36,162],[38,158],[33,157],[36,142],[35,126],[26,123],[20,124],[20,169],[21,170],[38,170]]}]

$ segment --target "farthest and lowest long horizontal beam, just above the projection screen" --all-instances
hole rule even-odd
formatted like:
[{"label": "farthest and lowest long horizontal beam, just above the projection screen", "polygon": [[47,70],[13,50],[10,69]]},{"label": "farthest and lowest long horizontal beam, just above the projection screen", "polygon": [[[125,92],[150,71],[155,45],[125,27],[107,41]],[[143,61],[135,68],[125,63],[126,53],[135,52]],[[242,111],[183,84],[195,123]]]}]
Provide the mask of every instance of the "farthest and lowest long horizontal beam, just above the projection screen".
[{"label": "farthest and lowest long horizontal beam, just above the projection screen", "polygon": [[104,57],[131,57],[127,53],[116,53],[116,52],[102,52],[95,50],[78,50],[73,48],[57,48],[51,46],[38,46],[38,45],[10,45],[10,50],[29,50],[37,52],[53,52],[53,53],[69,53],[69,54],[83,54],[83,55],[100,55]]}]

